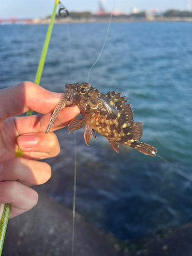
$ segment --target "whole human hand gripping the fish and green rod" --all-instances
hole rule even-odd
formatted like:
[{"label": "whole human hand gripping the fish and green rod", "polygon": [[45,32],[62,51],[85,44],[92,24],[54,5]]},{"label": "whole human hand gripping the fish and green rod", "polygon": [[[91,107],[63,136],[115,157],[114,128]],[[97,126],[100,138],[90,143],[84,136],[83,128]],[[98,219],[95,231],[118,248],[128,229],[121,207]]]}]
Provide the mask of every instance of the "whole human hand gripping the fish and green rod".
[{"label": "whole human hand gripping the fish and green rod", "polygon": [[[0,90],[0,203],[11,204],[10,218],[36,205],[38,195],[30,186],[51,177],[51,167],[37,160],[59,154],[59,143],[52,132],[79,114],[77,106],[63,109],[46,135],[50,112],[61,96],[32,82]],[[28,110],[41,114],[15,117]],[[23,158],[15,158],[18,147],[24,152]]]}]

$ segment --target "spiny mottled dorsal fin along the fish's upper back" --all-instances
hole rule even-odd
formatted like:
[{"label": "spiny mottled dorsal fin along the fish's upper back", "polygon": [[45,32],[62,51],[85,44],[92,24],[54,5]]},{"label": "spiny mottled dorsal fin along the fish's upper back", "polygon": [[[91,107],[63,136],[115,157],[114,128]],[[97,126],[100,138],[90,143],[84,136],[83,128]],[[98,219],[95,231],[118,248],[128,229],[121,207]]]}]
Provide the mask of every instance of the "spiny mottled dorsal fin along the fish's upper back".
[{"label": "spiny mottled dorsal fin along the fish's upper back", "polygon": [[108,95],[108,97],[113,101],[113,103],[117,107],[121,120],[124,123],[133,124],[133,110],[132,107],[130,106],[131,104],[125,104],[129,100],[125,100],[126,96],[121,97],[122,92],[115,94],[116,91],[117,90],[109,92],[106,95]]}]

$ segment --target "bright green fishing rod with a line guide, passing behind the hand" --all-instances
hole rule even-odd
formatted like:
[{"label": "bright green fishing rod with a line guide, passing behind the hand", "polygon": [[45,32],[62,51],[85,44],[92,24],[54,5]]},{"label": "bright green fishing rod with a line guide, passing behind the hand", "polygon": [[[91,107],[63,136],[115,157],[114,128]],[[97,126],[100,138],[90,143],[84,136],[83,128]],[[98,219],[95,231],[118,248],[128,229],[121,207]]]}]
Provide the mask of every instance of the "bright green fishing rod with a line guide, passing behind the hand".
[{"label": "bright green fishing rod with a line guide, passing behind the hand", "polygon": [[[39,86],[39,83],[40,83],[42,70],[44,69],[45,59],[46,59],[47,50],[48,50],[48,47],[49,47],[49,42],[50,42],[50,38],[51,38],[51,34],[52,34],[52,29],[53,29],[53,24],[54,24],[58,4],[59,4],[59,15],[61,17],[67,17],[69,15],[69,12],[67,11],[67,9],[59,2],[59,0],[56,0],[55,1],[55,6],[54,6],[54,9],[53,9],[53,13],[52,13],[52,16],[51,16],[49,28],[48,28],[48,31],[47,31],[44,47],[42,48],[42,53],[41,53],[41,57],[40,57],[40,60],[39,60],[39,65],[38,65],[35,81],[34,81],[34,83],[38,84],[38,86]],[[32,114],[33,114],[33,112],[30,111],[30,110],[27,112],[27,116],[31,116]],[[23,151],[21,151],[18,148],[15,157],[23,157]],[[0,205],[0,212],[1,211],[3,213],[2,213],[2,216],[0,216],[1,217],[1,222],[0,222],[0,256],[2,255],[2,249],[3,249],[5,233],[6,233],[8,219],[9,219],[9,214],[10,214],[10,211],[11,211],[11,205],[10,204],[1,204]]]}]

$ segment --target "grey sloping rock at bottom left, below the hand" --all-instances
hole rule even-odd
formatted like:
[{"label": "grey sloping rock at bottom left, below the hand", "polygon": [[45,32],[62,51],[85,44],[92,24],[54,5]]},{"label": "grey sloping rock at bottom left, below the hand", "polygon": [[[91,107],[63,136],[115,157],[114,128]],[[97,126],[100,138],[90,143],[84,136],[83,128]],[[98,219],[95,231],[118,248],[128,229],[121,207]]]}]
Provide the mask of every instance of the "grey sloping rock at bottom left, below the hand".
[{"label": "grey sloping rock at bottom left, below the hand", "polygon": [[[72,211],[38,191],[38,204],[9,220],[2,256],[72,255]],[[76,214],[74,256],[117,256],[116,239]]]}]

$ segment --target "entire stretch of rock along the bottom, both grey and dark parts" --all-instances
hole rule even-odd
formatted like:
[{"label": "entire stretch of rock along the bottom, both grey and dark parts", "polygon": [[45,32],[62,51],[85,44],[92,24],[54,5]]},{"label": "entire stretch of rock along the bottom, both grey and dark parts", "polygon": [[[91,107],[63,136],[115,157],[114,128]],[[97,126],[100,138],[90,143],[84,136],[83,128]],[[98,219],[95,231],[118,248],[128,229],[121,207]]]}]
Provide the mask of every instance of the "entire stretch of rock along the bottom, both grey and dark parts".
[{"label": "entire stretch of rock along the bottom, both grey and dark parts", "polygon": [[[38,188],[36,188],[37,190]],[[38,204],[9,220],[2,256],[71,256],[72,211],[38,189]],[[75,215],[74,256],[192,256],[192,223],[119,241]]]}]

